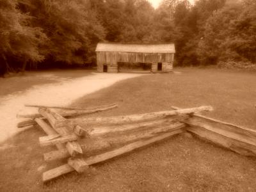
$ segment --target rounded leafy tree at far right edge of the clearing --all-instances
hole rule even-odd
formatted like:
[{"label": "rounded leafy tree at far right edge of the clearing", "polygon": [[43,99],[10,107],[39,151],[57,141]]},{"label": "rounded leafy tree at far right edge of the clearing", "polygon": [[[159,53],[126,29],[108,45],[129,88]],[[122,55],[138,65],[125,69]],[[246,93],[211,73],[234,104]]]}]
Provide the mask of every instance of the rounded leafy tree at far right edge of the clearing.
[{"label": "rounded leafy tree at far right edge of the clearing", "polygon": [[206,22],[198,53],[203,63],[256,61],[256,6],[232,4]]}]

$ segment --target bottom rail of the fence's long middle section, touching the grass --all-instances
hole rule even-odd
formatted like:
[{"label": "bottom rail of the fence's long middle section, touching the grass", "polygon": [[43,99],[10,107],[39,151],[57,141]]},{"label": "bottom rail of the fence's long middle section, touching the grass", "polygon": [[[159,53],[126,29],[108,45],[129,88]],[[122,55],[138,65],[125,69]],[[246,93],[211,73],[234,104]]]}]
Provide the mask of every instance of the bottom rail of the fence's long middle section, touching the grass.
[{"label": "bottom rail of the fence's long middle section, touching the grass", "polygon": [[[134,143],[130,143],[129,145],[125,145],[124,147],[117,148],[116,150],[112,150],[112,151],[109,151],[109,152],[106,152],[104,154],[100,154],[97,156],[89,157],[88,159],[85,159],[84,161],[86,162],[86,164],[88,166],[90,166],[92,164],[96,164],[96,163],[106,161],[108,159],[112,159],[113,157],[121,156],[122,154],[131,152],[132,150],[136,150],[137,148],[145,147],[152,143],[156,143],[157,141],[164,140],[166,138],[169,138],[170,136],[179,134],[181,132],[184,132],[184,130],[176,130],[173,132],[161,134],[159,136],[156,136],[156,137],[148,139],[148,140],[136,141]],[[63,164],[62,166],[59,166],[58,168],[54,168],[52,170],[44,172],[43,173],[43,182],[47,182],[47,181],[52,180],[56,177],[59,177],[63,174],[70,173],[73,171],[74,171],[74,168],[72,168],[69,164]]]}]

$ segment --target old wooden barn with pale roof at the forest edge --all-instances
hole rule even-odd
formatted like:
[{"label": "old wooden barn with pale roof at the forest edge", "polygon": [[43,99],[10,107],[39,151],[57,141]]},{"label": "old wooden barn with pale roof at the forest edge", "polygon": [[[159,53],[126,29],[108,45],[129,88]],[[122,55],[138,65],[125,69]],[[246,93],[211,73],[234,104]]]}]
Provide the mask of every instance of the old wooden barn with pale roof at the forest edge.
[{"label": "old wooden barn with pale roof at the forest edge", "polygon": [[119,72],[121,63],[147,63],[151,72],[171,72],[175,46],[174,44],[99,43],[96,53],[99,72]]}]

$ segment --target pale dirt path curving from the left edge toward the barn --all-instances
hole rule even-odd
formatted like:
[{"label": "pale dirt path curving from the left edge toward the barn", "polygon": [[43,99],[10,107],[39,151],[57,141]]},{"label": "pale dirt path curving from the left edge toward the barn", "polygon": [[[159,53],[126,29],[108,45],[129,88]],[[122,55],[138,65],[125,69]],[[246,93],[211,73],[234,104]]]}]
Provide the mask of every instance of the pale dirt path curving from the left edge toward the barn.
[{"label": "pale dirt path curving from the left edge toward the barn", "polygon": [[[17,129],[18,112],[33,113],[35,108],[25,108],[24,104],[68,106],[75,99],[88,93],[106,88],[123,79],[138,77],[141,74],[92,74],[75,79],[60,79],[58,83],[40,84],[26,92],[18,92],[0,97],[0,142],[20,131]],[[47,76],[45,76],[45,81]],[[31,79],[33,81],[33,79]]]}]

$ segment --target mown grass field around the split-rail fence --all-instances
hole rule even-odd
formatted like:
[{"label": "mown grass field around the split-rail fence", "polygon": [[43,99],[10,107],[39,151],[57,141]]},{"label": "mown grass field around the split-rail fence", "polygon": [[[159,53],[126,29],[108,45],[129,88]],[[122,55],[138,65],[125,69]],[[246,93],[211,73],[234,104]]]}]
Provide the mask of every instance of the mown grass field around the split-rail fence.
[{"label": "mown grass field around the split-rail fence", "polygon": [[[127,115],[211,105],[208,112],[256,129],[256,74],[217,69],[178,68],[180,73],[154,74],[120,81],[86,95],[72,106],[116,102],[118,108],[92,116]],[[88,173],[70,173],[49,184],[40,129],[28,130],[3,143],[0,151],[0,191],[255,191],[256,158],[244,157],[212,143],[174,136],[106,163]],[[61,163],[60,163],[61,164]],[[38,170],[38,167],[42,169]]]}]

